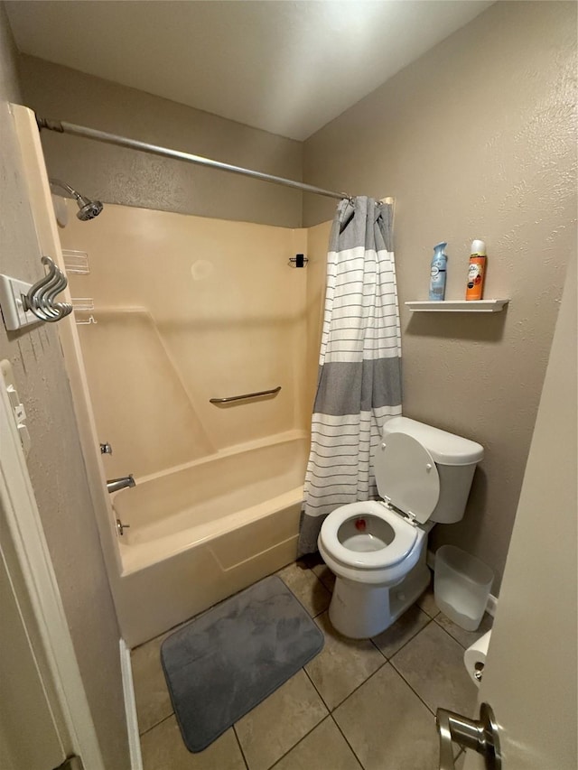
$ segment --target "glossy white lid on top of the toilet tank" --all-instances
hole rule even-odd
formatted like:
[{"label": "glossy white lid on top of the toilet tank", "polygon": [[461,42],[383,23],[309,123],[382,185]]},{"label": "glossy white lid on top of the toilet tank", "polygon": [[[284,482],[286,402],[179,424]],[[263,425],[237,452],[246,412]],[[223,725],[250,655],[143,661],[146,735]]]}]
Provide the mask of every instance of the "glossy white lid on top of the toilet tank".
[{"label": "glossy white lid on top of the toilet tank", "polygon": [[463,439],[455,433],[441,431],[409,417],[390,417],[383,426],[383,435],[406,433],[419,441],[440,465],[471,465],[483,459],[484,448],[476,441]]}]

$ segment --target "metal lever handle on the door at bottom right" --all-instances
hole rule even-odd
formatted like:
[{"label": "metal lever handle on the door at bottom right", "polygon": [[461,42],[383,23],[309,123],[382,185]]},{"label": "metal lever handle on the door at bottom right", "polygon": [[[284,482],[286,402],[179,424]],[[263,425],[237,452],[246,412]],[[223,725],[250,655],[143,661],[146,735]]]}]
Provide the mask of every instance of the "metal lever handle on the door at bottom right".
[{"label": "metal lever handle on the door at bottom right", "polygon": [[454,742],[483,756],[486,770],[501,770],[498,726],[487,703],[480,704],[480,719],[466,719],[453,711],[438,709],[435,727],[440,734],[440,770],[454,770]]}]

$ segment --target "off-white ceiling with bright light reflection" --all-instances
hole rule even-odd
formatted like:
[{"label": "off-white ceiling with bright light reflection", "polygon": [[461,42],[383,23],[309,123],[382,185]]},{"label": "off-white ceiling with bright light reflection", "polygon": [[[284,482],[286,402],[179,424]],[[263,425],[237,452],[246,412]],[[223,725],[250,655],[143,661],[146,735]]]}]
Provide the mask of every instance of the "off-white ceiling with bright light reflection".
[{"label": "off-white ceiling with bright light reflection", "polygon": [[303,140],[492,0],[7,2],[18,49]]}]

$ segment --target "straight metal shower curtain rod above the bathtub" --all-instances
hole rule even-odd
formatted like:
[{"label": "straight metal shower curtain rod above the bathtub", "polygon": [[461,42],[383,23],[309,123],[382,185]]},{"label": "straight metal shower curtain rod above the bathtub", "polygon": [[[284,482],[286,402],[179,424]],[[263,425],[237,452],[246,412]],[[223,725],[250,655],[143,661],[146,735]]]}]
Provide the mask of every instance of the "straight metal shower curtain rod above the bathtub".
[{"label": "straight metal shower curtain rod above the bathtub", "polygon": [[38,128],[41,131],[42,128],[46,128],[49,131],[56,131],[59,134],[85,136],[87,139],[96,139],[98,142],[106,142],[107,144],[117,144],[120,147],[130,147],[132,150],[140,150],[143,153],[163,155],[166,158],[174,158],[177,161],[196,163],[199,166],[207,166],[212,169],[220,169],[223,172],[242,174],[244,176],[250,176],[254,179],[260,179],[262,181],[272,181],[275,184],[283,184],[285,187],[293,187],[296,190],[304,190],[305,192],[315,192],[318,195],[325,195],[328,198],[351,198],[351,196],[346,192],[332,192],[331,190],[323,190],[321,187],[314,187],[312,184],[305,184],[303,181],[284,179],[284,177],[281,176],[273,176],[272,174],[266,174],[264,172],[256,172],[252,169],[244,169],[241,166],[232,166],[230,163],[211,161],[210,158],[203,158],[200,155],[191,155],[191,153],[182,153],[179,150],[170,150],[168,147],[160,147],[157,144],[146,144],[145,142],[138,142],[135,139],[128,139],[126,136],[107,134],[105,131],[97,131],[94,128],[87,128],[85,125],[66,123],[64,120],[49,120],[47,118],[38,116],[36,116],[36,123],[38,124]]}]

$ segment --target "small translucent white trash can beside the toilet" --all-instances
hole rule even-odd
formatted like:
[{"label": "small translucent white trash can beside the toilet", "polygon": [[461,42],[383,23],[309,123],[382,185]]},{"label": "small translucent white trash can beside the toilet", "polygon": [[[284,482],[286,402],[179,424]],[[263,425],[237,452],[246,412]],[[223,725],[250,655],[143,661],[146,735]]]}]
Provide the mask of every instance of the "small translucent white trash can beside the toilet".
[{"label": "small translucent white trash can beside the toilet", "polygon": [[487,564],[455,545],[443,545],[435,552],[435,603],[461,628],[475,631],[480,626],[493,580]]}]

